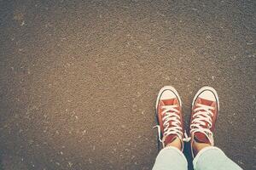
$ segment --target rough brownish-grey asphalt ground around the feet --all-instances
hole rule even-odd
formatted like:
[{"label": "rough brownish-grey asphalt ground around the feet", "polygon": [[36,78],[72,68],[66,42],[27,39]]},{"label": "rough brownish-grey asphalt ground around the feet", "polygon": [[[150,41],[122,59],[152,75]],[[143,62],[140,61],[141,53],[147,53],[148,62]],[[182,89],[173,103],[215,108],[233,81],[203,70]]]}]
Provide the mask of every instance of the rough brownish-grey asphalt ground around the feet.
[{"label": "rough brownish-grey asphalt ground around the feet", "polygon": [[197,90],[215,88],[216,145],[256,169],[255,1],[0,0],[0,10],[0,169],[151,169],[165,85],[186,127]]}]

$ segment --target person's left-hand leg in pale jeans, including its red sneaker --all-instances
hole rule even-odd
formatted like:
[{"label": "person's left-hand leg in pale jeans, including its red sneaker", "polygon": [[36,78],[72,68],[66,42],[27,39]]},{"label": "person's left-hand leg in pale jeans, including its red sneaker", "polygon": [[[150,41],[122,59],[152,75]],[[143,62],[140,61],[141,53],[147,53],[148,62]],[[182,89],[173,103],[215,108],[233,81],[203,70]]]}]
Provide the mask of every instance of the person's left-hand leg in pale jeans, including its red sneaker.
[{"label": "person's left-hand leg in pale jeans, including its red sneaker", "polygon": [[[163,148],[154,163],[154,170],[186,170],[188,162],[183,155],[182,103],[177,91],[169,86],[160,89],[156,101],[159,140]],[[161,138],[162,137],[162,138]]]}]

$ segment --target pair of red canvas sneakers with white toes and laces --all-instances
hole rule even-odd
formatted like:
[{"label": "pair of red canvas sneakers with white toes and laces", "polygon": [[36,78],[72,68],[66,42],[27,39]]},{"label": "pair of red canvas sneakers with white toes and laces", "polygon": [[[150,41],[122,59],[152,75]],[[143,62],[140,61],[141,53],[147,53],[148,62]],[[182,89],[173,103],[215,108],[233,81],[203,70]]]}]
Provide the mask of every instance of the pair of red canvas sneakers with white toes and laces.
[{"label": "pair of red canvas sneakers with white toes and laces", "polygon": [[182,150],[183,143],[189,142],[190,139],[192,142],[214,144],[213,131],[219,104],[218,94],[213,88],[203,87],[195,94],[192,103],[189,137],[183,126],[182,102],[175,88],[171,86],[161,88],[155,107],[159,122],[156,127],[158,127],[159,140],[163,147],[177,138],[181,141]]}]

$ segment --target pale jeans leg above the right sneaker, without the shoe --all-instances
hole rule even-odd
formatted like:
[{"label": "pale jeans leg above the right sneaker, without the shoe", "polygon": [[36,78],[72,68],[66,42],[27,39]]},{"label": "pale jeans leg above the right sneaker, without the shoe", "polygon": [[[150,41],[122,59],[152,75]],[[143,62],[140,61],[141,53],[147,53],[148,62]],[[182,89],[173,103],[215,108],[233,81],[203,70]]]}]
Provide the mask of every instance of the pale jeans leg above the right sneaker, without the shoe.
[{"label": "pale jeans leg above the right sneaker, without the shoe", "polygon": [[217,147],[205,147],[200,150],[193,161],[195,170],[241,170],[224,152]]}]

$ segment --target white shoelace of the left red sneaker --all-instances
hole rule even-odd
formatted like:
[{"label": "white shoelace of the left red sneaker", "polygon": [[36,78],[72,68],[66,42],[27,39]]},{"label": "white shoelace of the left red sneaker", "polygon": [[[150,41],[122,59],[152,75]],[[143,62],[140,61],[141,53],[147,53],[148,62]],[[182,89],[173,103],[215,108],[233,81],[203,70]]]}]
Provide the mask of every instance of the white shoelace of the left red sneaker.
[{"label": "white shoelace of the left red sneaker", "polygon": [[[165,109],[161,114],[165,116],[162,117],[163,126],[164,126],[164,134],[163,139],[160,139],[160,125],[156,125],[154,127],[157,127],[158,129],[158,139],[165,147],[165,139],[168,135],[175,134],[177,137],[183,141],[189,141],[187,133],[184,133],[185,138],[183,139],[183,128],[180,127],[180,116],[177,115],[177,105],[164,105],[162,106],[162,109]],[[170,121],[172,121],[172,127],[170,127]],[[153,128],[154,128],[153,127]]]}]

